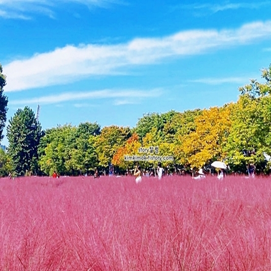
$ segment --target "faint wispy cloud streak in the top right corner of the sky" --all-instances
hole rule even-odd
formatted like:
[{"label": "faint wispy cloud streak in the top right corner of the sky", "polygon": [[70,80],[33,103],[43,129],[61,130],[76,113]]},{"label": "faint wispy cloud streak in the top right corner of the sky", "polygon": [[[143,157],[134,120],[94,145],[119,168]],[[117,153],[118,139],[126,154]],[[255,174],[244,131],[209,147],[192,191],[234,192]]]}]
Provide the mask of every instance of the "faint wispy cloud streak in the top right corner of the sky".
[{"label": "faint wispy cloud streak in the top right corner of the sky", "polygon": [[260,2],[225,2],[222,4],[214,4],[214,3],[193,3],[193,4],[180,4],[174,7],[174,9],[191,9],[191,10],[204,10],[209,11],[211,13],[216,13],[219,11],[225,11],[229,9],[258,9],[263,6],[270,6],[270,1],[260,1]]}]

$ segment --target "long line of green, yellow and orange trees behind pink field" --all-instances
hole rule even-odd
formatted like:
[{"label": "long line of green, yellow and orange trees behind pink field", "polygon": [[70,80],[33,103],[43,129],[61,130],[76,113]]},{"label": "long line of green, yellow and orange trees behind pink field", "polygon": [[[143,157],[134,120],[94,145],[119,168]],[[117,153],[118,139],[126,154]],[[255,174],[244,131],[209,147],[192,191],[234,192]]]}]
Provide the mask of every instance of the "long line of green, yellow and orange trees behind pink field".
[{"label": "long line of green, yellow and orange trees behind pink field", "polygon": [[[172,172],[211,170],[211,163],[224,161],[234,172],[245,173],[253,164],[258,173],[271,171],[271,65],[262,70],[263,83],[250,80],[239,88],[237,102],[221,107],[184,112],[147,113],[134,128],[95,122],[60,125],[42,130],[34,111],[18,109],[7,125],[9,145],[0,151],[0,176],[32,172],[37,175],[89,174],[99,169],[124,173],[135,166],[125,155],[138,155],[140,147],[157,146],[159,156],[172,156],[162,162]],[[6,122],[6,77],[0,66],[0,138]],[[140,161],[143,169],[158,162]]]}]

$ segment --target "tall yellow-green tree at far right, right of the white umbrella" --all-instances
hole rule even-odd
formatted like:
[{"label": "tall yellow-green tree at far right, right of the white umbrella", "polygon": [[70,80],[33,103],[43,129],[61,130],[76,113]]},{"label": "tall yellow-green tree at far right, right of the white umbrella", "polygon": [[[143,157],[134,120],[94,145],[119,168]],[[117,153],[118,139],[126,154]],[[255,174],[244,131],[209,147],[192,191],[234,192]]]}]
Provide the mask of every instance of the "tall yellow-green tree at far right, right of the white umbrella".
[{"label": "tall yellow-green tree at far right, right of the white umbrella", "polygon": [[268,171],[263,153],[271,154],[271,66],[262,70],[262,78],[266,82],[253,79],[239,88],[226,145],[230,166],[235,171],[245,172],[251,163],[258,171]]}]

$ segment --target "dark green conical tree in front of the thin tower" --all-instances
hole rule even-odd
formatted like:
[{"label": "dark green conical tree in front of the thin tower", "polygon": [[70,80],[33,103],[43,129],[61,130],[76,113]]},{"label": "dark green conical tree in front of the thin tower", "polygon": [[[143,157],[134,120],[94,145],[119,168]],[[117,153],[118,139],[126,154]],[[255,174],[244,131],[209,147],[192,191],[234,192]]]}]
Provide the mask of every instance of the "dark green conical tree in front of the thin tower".
[{"label": "dark green conical tree in front of the thin tower", "polygon": [[38,173],[37,150],[41,135],[40,123],[31,108],[26,106],[24,109],[18,109],[11,117],[7,126],[7,151],[14,174],[24,175],[27,170]]}]

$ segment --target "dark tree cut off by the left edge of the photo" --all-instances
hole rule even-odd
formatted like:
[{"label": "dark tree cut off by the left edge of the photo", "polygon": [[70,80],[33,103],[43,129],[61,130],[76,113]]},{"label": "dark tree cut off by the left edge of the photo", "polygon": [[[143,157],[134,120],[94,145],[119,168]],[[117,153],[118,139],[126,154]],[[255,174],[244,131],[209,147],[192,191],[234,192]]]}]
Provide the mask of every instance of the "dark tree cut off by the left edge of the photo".
[{"label": "dark tree cut off by the left edge of the photo", "polygon": [[0,140],[3,139],[3,129],[6,122],[6,112],[7,112],[7,97],[3,94],[3,88],[6,85],[6,76],[2,74],[3,68],[0,64]]}]

